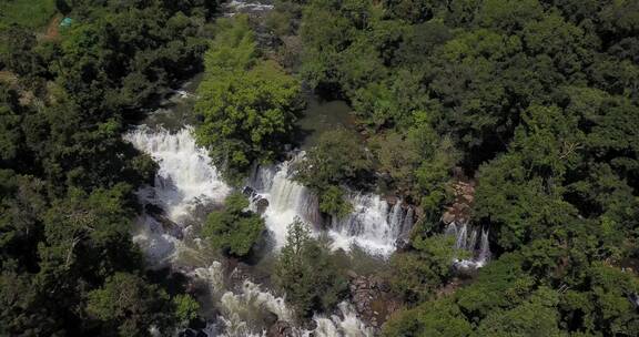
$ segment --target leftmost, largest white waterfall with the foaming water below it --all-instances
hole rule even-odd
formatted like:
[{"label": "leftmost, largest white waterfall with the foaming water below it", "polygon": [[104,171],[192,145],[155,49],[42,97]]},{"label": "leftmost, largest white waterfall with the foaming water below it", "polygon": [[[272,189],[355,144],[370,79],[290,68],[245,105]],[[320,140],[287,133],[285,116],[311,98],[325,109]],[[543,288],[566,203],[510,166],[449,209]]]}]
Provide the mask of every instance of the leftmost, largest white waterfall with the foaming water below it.
[{"label": "leftmost, largest white waterfall with the foaming water below it", "polygon": [[138,191],[144,205],[164,214],[143,215],[138,219],[133,241],[145,253],[150,265],[163,267],[176,256],[179,239],[197,207],[221,204],[230,187],[222,182],[205,150],[195,145],[192,129],[176,133],[164,129],[139,126],[124,135],[135,149],[158,164],[154,185]]}]

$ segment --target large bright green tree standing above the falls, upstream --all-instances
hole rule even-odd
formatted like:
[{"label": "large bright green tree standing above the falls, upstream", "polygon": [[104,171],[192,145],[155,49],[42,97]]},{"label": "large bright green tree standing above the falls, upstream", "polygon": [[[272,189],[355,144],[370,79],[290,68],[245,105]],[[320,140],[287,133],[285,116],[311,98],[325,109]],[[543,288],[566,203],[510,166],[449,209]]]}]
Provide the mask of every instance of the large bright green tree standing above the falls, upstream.
[{"label": "large bright green tree standing above the falls, upstream", "polygon": [[290,142],[301,85],[277,63],[258,58],[245,17],[221,20],[217,30],[197,90],[195,111],[203,123],[196,137],[227,177],[236,178],[254,161],[275,160]]}]

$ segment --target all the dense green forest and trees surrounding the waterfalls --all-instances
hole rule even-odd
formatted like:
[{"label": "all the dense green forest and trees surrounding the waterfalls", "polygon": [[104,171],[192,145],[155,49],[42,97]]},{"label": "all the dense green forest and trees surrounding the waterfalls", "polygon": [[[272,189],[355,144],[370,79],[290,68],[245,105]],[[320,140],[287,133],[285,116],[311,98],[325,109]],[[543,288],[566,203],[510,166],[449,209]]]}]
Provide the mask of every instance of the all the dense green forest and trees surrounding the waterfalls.
[{"label": "all the dense green forest and trees surrounding the waterfalls", "polygon": [[[133,192],[158,167],[122,133],[204,71],[194,134],[234,185],[296,142],[305,85],[353,108],[294,178],[326,216],[379,186],[416,207],[377,273],[402,304],[381,335],[639,336],[639,1],[277,0],[268,47],[214,1],[36,2],[0,4],[0,335],[169,335],[197,315],[144,273]],[[444,294],[460,176],[494,256]],[[209,214],[213,247],[252,253],[247,206]],[[297,319],[348,296],[339,254],[291,225],[273,283]]]}]

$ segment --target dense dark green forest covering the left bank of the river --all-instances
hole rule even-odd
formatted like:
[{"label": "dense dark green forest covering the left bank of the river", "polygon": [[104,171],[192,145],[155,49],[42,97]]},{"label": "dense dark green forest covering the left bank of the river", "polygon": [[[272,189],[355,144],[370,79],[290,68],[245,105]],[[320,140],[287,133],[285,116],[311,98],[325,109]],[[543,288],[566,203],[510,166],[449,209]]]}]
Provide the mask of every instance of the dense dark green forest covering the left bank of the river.
[{"label": "dense dark green forest covering the left bank of the river", "polygon": [[[197,304],[144,276],[130,237],[132,192],[155,164],[121,133],[199,71],[215,3],[2,1],[0,9],[0,335],[170,331]],[[73,22],[59,27],[53,16]]]}]

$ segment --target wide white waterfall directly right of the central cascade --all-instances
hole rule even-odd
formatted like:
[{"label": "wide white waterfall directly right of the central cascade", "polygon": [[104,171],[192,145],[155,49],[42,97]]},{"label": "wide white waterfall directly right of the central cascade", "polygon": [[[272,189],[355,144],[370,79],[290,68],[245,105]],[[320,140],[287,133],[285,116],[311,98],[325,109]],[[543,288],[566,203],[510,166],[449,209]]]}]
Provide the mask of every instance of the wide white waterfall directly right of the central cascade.
[{"label": "wide white waterfall directly right of the central cascade", "polygon": [[354,212],[344,218],[332,218],[328,235],[333,247],[349,251],[358,246],[371,255],[388,257],[399,239],[406,239],[413,227],[413,210],[405,211],[402,201],[393,207],[376,194],[351,197]]}]

